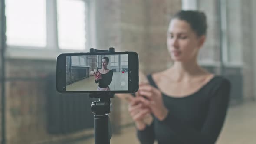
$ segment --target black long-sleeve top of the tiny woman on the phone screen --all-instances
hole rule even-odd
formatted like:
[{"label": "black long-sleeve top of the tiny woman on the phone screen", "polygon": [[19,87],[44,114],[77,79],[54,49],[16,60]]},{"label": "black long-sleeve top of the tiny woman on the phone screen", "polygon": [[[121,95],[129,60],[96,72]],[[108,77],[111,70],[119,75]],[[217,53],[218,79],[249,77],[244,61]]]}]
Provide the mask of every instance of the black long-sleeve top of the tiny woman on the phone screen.
[{"label": "black long-sleeve top of the tiny woman on the phone screen", "polygon": [[98,86],[100,88],[107,88],[108,85],[110,85],[113,77],[113,71],[109,70],[107,73],[102,74],[102,79],[99,79],[98,81],[95,80],[95,83],[98,83]]}]

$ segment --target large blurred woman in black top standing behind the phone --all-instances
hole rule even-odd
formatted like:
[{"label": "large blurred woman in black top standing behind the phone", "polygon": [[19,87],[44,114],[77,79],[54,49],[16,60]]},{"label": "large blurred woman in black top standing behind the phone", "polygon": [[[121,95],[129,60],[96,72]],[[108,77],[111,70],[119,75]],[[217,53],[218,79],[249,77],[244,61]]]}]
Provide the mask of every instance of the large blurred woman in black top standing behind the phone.
[{"label": "large blurred woman in black top standing behind the phone", "polygon": [[[230,82],[197,64],[206,39],[206,16],[180,11],[171,19],[167,48],[174,65],[148,75],[129,104],[141,144],[214,144],[229,103]],[[151,113],[153,121],[143,120]]]}]

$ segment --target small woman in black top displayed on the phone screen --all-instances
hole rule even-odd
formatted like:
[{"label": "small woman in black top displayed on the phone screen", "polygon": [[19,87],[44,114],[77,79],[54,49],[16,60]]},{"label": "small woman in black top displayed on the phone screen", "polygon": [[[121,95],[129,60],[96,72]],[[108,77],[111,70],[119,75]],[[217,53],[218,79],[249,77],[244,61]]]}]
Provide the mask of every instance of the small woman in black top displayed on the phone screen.
[{"label": "small woman in black top displayed on the phone screen", "polygon": [[113,71],[107,68],[108,57],[102,58],[102,68],[95,71],[95,83],[98,83],[97,91],[110,91],[109,85],[112,81]]}]

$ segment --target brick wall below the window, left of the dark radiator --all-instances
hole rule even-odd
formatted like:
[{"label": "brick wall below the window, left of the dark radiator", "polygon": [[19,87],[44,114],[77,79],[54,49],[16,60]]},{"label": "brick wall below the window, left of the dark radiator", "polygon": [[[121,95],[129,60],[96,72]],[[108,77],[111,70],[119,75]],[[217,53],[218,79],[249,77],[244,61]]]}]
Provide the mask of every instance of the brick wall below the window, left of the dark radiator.
[{"label": "brick wall below the window, left of the dark radiator", "polygon": [[55,69],[55,61],[7,60],[7,144],[49,144],[93,134],[93,129],[48,133],[46,77]]}]

